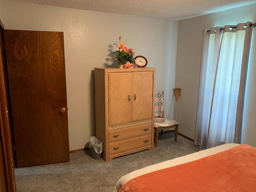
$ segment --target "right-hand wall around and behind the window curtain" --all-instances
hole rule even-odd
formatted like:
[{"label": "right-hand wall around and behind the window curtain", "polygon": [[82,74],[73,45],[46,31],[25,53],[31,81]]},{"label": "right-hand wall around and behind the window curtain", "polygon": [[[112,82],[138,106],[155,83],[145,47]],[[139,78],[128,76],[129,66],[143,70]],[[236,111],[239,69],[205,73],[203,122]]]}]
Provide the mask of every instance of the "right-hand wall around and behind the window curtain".
[{"label": "right-hand wall around and behind the window curtain", "polygon": [[[256,4],[252,4],[179,21],[175,86],[182,89],[178,101],[177,116],[177,120],[180,122],[179,132],[181,134],[194,139],[203,29],[253,20],[255,22],[255,10]],[[256,116],[255,30],[256,28],[253,30],[254,52],[251,54],[251,65],[248,69],[242,134],[242,143],[252,146],[256,146],[256,139],[254,138],[256,135],[254,123],[254,117]]]}]

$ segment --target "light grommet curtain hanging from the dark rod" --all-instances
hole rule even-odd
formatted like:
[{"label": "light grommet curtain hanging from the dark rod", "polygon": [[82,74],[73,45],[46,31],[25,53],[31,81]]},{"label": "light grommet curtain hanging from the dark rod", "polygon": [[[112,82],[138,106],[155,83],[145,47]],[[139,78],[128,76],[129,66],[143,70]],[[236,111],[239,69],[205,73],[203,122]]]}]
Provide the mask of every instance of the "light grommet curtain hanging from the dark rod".
[{"label": "light grommet curtain hanging from the dark rod", "polygon": [[252,23],[204,29],[194,145],[240,143]]}]

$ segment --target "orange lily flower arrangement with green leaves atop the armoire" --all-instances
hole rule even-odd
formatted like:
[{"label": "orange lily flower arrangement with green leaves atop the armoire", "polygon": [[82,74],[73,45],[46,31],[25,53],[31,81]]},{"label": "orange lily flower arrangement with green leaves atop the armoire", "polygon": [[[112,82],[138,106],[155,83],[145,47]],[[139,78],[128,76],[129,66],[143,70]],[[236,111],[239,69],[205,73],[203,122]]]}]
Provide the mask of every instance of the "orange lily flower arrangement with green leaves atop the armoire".
[{"label": "orange lily flower arrangement with green leaves atop the armoire", "polygon": [[134,58],[133,55],[135,52],[132,48],[127,48],[125,46],[125,43],[121,43],[122,37],[119,36],[119,42],[118,44],[115,43],[114,45],[117,45],[116,47],[119,48],[119,50],[115,51],[113,54],[116,55],[115,62],[117,62],[118,65],[124,65],[124,68],[134,68]]}]

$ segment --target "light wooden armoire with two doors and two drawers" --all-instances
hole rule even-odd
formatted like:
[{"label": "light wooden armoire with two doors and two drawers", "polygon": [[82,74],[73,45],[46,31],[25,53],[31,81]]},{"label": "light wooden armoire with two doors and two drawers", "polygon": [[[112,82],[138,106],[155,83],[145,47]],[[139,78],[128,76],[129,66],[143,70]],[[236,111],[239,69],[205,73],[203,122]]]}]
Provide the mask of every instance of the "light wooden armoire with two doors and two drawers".
[{"label": "light wooden armoire with two doors and two drawers", "polygon": [[96,137],[102,158],[154,148],[155,68],[95,68]]}]

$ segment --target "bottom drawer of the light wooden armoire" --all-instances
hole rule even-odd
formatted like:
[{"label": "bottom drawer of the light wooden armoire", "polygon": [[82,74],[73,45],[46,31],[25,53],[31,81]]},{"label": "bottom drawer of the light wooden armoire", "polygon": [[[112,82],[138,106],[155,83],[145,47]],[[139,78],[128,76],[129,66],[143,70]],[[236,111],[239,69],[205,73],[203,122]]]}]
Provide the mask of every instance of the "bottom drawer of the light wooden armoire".
[{"label": "bottom drawer of the light wooden armoire", "polygon": [[109,155],[151,145],[151,134],[109,144]]}]

